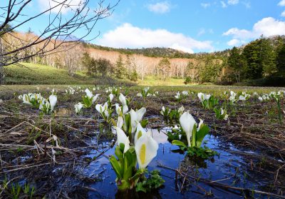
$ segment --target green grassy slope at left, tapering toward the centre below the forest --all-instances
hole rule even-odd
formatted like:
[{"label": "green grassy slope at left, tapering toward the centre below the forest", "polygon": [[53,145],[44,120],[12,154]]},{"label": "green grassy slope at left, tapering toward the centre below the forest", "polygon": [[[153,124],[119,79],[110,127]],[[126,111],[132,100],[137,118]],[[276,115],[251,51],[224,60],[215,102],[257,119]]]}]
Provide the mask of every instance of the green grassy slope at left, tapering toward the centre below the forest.
[{"label": "green grassy slope at left, tapering toward the centre below the forest", "polygon": [[131,83],[130,81],[120,81],[114,78],[93,78],[80,72],[74,76],[69,76],[66,70],[41,64],[21,63],[21,65],[23,66],[5,66],[5,84],[113,85]]}]

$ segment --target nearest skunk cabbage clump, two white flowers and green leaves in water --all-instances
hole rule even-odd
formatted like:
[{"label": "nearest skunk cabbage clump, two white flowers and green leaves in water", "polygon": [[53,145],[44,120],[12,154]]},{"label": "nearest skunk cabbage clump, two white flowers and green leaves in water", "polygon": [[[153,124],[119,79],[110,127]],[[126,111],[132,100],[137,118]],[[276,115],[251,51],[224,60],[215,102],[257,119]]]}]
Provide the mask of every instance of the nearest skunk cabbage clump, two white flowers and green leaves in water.
[{"label": "nearest skunk cabbage clump, two white flowers and green leaves in water", "polygon": [[[135,133],[134,142],[130,142],[125,132],[115,126],[118,146],[115,156],[110,157],[110,163],[117,175],[116,183],[119,190],[147,192],[160,188],[164,180],[158,171],[147,170],[147,165],[157,155],[158,143],[151,137],[150,131],[145,131],[140,123]],[[138,168],[137,168],[138,164]]]}]

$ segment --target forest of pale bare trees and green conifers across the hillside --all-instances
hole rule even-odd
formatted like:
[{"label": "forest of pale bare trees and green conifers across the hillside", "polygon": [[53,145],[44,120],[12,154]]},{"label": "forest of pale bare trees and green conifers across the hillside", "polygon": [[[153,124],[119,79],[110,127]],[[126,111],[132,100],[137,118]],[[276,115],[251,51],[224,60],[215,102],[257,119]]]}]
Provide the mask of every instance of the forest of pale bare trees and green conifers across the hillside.
[{"label": "forest of pale bare trees and green conifers across the hillside", "polygon": [[[18,38],[22,38],[23,43],[35,36],[31,30],[5,34],[1,37],[2,48],[13,51],[13,46],[5,44],[19,46],[16,44],[20,42]],[[10,62],[23,57],[24,62],[66,69],[71,76],[81,71],[88,76],[111,76],[130,81],[157,76],[163,81],[184,78],[185,84],[284,86],[284,41],[284,36],[261,36],[233,49],[192,54],[167,48],[113,49],[78,41],[64,43],[52,53],[29,56],[43,48],[40,43],[16,55],[11,54]],[[44,49],[53,49],[53,44],[44,46]]]}]

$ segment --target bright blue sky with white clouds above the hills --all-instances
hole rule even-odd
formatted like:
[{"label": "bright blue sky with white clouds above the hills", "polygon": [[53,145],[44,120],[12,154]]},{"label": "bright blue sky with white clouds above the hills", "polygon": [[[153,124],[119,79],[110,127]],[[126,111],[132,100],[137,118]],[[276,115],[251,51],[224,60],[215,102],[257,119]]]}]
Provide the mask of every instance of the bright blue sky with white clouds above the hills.
[{"label": "bright blue sky with white clouds above the hills", "polygon": [[[36,14],[47,1],[33,1],[26,14]],[[90,1],[91,8],[95,2]],[[69,11],[63,14],[69,15]],[[42,16],[19,30],[31,27],[37,33],[46,20],[47,16]],[[245,44],[261,34],[285,34],[285,0],[121,0],[113,16],[98,21],[90,38],[98,31],[100,35],[91,43],[103,46],[219,51]],[[79,37],[84,30],[76,34]]]}]

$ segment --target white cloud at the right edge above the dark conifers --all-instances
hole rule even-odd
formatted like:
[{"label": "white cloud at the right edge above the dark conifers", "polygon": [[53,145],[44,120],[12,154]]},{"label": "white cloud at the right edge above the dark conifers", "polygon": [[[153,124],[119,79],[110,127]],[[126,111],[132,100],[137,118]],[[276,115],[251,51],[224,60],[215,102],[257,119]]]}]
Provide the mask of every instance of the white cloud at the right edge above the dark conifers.
[{"label": "white cloud at the right edge above the dark conifers", "polygon": [[264,36],[284,35],[285,21],[279,21],[272,17],[267,17],[257,21],[252,30],[246,29],[229,29],[224,32],[224,36],[233,36],[233,39],[257,39],[262,34]]}]

